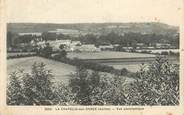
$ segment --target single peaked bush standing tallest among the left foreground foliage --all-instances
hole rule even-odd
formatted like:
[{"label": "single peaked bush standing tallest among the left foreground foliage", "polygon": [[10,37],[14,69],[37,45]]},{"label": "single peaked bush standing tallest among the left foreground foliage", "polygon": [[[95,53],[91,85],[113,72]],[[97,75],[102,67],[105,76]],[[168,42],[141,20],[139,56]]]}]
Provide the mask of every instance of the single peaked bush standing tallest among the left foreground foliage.
[{"label": "single peaked bush standing tallest among the left foreground foliage", "polygon": [[34,63],[31,75],[23,78],[26,105],[51,105],[55,95],[52,91],[52,74],[43,63]]}]

